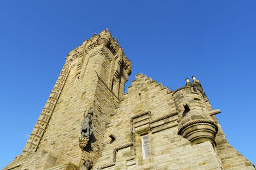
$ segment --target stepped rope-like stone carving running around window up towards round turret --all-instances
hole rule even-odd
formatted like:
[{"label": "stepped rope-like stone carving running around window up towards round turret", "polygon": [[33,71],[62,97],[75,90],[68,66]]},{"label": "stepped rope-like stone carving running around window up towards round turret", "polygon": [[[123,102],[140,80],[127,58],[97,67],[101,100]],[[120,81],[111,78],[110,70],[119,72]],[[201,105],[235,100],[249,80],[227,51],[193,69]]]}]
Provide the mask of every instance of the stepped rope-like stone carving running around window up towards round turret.
[{"label": "stepped rope-like stone carving running around window up towards round turret", "polygon": [[100,166],[100,167],[98,167],[98,169],[104,169],[106,167],[115,166],[115,164],[116,164],[116,153],[118,152],[118,150],[122,150],[124,148],[128,148],[128,147],[134,145],[133,119],[138,118],[138,117],[142,117],[142,116],[145,116],[145,115],[148,115],[149,120],[150,120],[150,124],[152,124],[154,122],[158,122],[160,120],[164,120],[166,118],[170,118],[170,117],[173,117],[175,115],[178,115],[178,113],[174,112],[174,113],[171,113],[169,115],[165,115],[164,117],[156,118],[155,120],[151,120],[151,111],[147,111],[147,112],[141,113],[139,115],[135,115],[134,117],[131,117],[131,134],[130,134],[131,135],[131,143],[126,143],[125,145],[121,145],[121,146],[116,147],[113,150],[113,162],[111,162],[109,164],[105,164],[103,166]]}]

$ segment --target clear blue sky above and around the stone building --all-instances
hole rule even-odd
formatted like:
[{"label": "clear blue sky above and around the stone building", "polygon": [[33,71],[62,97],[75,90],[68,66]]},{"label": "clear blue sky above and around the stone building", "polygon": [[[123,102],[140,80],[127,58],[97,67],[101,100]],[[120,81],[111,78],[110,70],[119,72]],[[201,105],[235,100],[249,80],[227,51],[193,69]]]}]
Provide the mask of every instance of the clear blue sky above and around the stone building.
[{"label": "clear blue sky above and around the stone building", "polygon": [[[0,169],[19,155],[70,50],[103,29],[170,90],[195,75],[227,139],[253,164],[256,1],[1,1]],[[126,87],[127,87],[126,86]]]}]

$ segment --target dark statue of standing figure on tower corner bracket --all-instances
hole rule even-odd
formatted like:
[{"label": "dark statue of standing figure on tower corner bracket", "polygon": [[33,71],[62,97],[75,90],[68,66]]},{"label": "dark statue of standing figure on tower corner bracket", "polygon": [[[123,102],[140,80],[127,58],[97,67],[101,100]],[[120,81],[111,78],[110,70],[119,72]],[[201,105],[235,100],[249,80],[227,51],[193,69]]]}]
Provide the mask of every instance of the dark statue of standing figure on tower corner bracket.
[{"label": "dark statue of standing figure on tower corner bracket", "polygon": [[89,138],[93,132],[92,127],[92,113],[88,113],[81,124],[81,136]]}]

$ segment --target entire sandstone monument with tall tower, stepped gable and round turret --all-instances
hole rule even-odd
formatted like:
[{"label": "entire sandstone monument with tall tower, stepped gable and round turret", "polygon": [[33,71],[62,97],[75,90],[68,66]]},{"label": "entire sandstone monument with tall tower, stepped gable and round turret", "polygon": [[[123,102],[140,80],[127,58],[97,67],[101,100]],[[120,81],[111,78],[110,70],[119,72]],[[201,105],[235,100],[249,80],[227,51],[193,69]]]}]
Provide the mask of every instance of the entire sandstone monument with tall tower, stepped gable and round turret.
[{"label": "entire sandstone monument with tall tower, stepped gable and round turret", "polygon": [[[223,134],[200,81],[131,74],[108,29],[70,53],[23,152],[4,169],[255,169]],[[13,155],[14,156],[14,155]]]}]

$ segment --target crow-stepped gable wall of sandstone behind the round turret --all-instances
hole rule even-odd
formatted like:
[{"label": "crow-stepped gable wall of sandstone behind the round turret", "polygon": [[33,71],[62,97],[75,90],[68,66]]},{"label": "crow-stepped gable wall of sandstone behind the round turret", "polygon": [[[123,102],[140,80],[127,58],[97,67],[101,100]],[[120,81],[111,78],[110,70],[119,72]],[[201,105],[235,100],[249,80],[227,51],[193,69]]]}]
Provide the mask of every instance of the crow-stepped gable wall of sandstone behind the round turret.
[{"label": "crow-stepped gable wall of sandstone behind the round turret", "polygon": [[[193,99],[195,94],[191,96]],[[214,115],[220,111],[213,111],[204,99],[211,120],[218,125],[216,145],[211,141],[194,145],[179,135],[173,90],[163,88],[143,74],[136,75],[115,115],[111,116],[102,157],[94,169],[254,169],[228,145]],[[202,104],[200,101],[199,105]],[[150,139],[150,157],[144,160],[142,134],[148,134]],[[109,138],[111,135],[115,136],[114,141]]]}]

